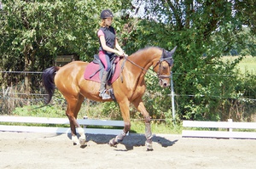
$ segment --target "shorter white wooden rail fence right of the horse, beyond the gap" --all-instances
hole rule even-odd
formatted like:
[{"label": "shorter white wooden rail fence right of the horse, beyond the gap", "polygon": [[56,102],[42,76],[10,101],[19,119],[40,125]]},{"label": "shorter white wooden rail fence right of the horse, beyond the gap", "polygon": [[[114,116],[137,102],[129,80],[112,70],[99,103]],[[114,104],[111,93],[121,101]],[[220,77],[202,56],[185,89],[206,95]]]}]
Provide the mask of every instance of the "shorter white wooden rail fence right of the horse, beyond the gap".
[{"label": "shorter white wooden rail fence right of the horse, beyond the gap", "polygon": [[[182,136],[187,138],[256,138],[256,132],[234,132],[233,129],[249,129],[256,131],[256,122],[229,121],[183,121],[183,127],[193,127],[193,130],[183,130]],[[195,128],[207,128],[195,130]],[[225,131],[217,131],[218,129]]]}]

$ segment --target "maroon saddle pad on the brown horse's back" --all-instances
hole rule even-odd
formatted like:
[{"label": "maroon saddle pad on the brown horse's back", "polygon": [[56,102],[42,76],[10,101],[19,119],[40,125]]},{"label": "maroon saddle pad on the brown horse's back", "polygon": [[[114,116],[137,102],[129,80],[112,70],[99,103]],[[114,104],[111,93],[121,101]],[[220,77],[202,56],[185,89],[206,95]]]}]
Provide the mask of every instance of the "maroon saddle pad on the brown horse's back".
[{"label": "maroon saddle pad on the brown horse's back", "polygon": [[[100,71],[98,71],[96,73],[95,76],[92,76],[93,74],[95,74],[95,72],[97,70],[100,69],[100,66],[99,65],[96,65],[95,63],[93,62],[90,62],[89,65],[87,65],[87,67],[85,68],[84,70],[84,79],[85,80],[89,80],[89,81],[94,81],[94,82],[101,82],[101,79],[100,79]],[[116,64],[116,68],[114,70],[114,74],[113,74],[113,77],[110,81],[110,83],[112,84],[113,82],[115,82],[118,78],[119,78],[119,75],[120,75],[120,64],[119,62]],[[92,76],[92,77],[90,77]]]}]

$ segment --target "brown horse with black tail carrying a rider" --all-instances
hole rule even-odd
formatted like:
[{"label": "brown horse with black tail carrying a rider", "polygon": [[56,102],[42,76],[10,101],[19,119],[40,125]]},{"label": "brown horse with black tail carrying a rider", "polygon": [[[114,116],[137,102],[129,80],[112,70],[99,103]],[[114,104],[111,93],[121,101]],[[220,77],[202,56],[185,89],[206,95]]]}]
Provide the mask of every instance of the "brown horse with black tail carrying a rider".
[{"label": "brown horse with black tail carrying a rider", "polygon": [[[145,118],[147,149],[153,150],[150,116],[145,109],[142,99],[143,93],[146,90],[144,76],[149,67],[153,66],[153,70],[159,78],[160,86],[170,86],[170,74],[173,66],[172,54],[174,54],[176,48],[173,48],[171,52],[156,47],[144,48],[120,60],[121,65],[124,62],[125,65],[119,78],[113,82],[112,87],[114,97],[119,104],[119,109],[125,122],[125,127],[122,133],[109,141],[111,146],[119,144],[125,138],[126,133],[130,131],[131,120],[129,106],[130,104],[134,104]],[[85,144],[86,139],[84,129],[79,126],[77,121],[77,115],[84,98],[106,101],[99,97],[99,82],[84,80],[84,69],[88,64],[83,61],[73,61],[63,67],[50,67],[44,70],[43,73],[44,87],[49,94],[46,104],[49,104],[56,86],[67,100],[66,115],[70,121],[72,140],[74,144],[82,145]],[[113,101],[113,99],[108,99],[107,101]],[[79,139],[77,138],[76,127],[80,135]]]}]

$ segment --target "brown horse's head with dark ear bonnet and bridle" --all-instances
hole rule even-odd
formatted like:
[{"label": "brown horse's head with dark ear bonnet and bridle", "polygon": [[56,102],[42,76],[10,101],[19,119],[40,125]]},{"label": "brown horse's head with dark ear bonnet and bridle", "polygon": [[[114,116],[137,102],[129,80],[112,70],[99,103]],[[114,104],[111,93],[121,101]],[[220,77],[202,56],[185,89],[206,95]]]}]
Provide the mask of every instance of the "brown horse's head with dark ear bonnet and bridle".
[{"label": "brown horse's head with dark ear bonnet and bridle", "polygon": [[173,48],[171,52],[163,49],[160,60],[154,65],[154,71],[159,78],[160,87],[170,86],[170,76],[173,66],[172,54],[174,54],[176,48]]}]

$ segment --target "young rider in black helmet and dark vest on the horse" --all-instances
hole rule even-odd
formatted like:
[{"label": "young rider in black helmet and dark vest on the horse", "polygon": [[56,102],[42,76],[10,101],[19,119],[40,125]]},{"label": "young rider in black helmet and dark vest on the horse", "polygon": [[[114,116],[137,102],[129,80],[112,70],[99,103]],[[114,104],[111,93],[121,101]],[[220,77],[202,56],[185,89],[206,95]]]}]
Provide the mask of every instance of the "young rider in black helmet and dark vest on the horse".
[{"label": "young rider in black helmet and dark vest on the horse", "polygon": [[114,54],[125,57],[127,54],[125,54],[123,49],[120,48],[119,42],[115,36],[115,31],[111,26],[113,21],[112,12],[109,9],[102,10],[101,18],[101,27],[97,32],[97,36],[100,40],[99,57],[104,65],[104,71],[99,96],[102,97],[102,99],[110,99],[110,96],[106,93],[108,70],[111,67],[109,60],[114,56]]}]

